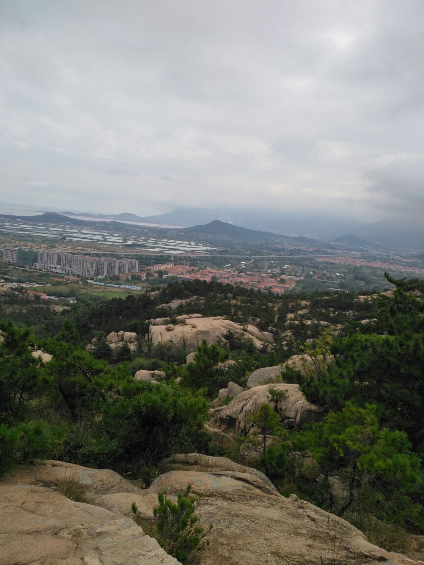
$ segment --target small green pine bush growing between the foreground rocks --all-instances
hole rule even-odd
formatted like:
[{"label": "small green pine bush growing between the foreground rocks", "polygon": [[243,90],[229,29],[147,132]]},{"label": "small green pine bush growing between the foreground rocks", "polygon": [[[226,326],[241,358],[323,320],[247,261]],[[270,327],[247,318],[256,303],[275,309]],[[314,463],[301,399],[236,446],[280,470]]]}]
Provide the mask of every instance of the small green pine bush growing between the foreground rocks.
[{"label": "small green pine bush growing between the foreground rocks", "polygon": [[[199,551],[209,545],[205,537],[213,528],[209,524],[205,530],[199,525],[200,516],[196,510],[201,501],[201,494],[190,495],[191,485],[177,494],[177,502],[166,497],[166,492],[158,494],[158,506],[153,509],[155,527],[152,535],[165,551],[178,559],[183,565],[191,562],[193,551]],[[135,502],[131,505],[134,519],[142,524]],[[149,532],[150,533],[150,532]]]}]

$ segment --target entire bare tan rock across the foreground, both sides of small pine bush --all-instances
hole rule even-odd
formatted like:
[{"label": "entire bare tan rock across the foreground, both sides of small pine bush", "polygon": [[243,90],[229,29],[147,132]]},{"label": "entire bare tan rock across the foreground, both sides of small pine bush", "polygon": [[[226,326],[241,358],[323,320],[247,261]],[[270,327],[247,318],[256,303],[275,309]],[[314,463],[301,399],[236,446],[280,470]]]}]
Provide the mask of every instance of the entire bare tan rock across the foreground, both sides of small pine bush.
[{"label": "entire bare tan rock across the foreground, both sides of small pine bush", "polygon": [[[0,483],[1,565],[178,565],[131,519],[135,502],[152,518],[157,494],[188,483],[202,493],[201,524],[213,524],[202,565],[418,565],[384,551],[337,516],[295,495],[284,498],[261,472],[223,457],[174,455],[165,474],[141,490],[113,471],[60,462],[18,467]],[[88,503],[58,492],[64,477]]]}]

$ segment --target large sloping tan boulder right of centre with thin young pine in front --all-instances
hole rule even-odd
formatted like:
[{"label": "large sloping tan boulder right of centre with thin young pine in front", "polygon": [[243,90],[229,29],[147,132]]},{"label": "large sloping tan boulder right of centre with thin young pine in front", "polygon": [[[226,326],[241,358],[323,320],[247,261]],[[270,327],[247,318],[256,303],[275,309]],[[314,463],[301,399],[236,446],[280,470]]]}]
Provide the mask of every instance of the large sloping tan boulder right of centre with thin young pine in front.
[{"label": "large sloping tan boulder right of centre with thin young pine in front", "polygon": [[[252,428],[252,424],[247,421],[249,416],[252,416],[263,402],[270,402],[270,390],[284,393],[278,400],[276,409],[288,427],[300,427],[321,419],[322,409],[306,400],[299,385],[270,384],[244,390],[228,405],[210,410],[210,427],[220,429],[230,436],[248,433]],[[274,403],[270,404],[274,406]]]}]

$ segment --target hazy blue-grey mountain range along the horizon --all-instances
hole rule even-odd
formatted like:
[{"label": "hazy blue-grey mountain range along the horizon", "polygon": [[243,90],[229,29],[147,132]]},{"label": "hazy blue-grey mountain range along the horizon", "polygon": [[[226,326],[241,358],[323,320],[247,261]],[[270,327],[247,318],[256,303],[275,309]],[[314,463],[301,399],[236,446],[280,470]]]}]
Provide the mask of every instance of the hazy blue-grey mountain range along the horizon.
[{"label": "hazy blue-grey mountain range along the horizon", "polygon": [[[126,222],[162,224],[183,227],[188,233],[209,234],[237,238],[237,241],[276,238],[281,236],[305,244],[319,241],[347,247],[388,247],[392,249],[424,250],[424,222],[419,224],[401,223],[396,220],[380,220],[364,223],[352,218],[335,218],[292,212],[235,210],[234,208],[178,208],[172,212],[152,216],[139,216],[131,212],[122,214],[75,214],[74,212],[46,212],[37,216],[0,215],[2,218],[21,219],[33,222],[58,222],[84,225],[84,221]],[[219,222],[219,223],[216,223]],[[128,224],[127,224],[128,225]],[[194,225],[194,227],[193,227]],[[207,227],[209,226],[209,227]],[[231,229],[235,228],[235,229]],[[194,230],[197,230],[194,232]],[[246,231],[243,231],[246,230]],[[315,241],[311,241],[315,240]]]}]

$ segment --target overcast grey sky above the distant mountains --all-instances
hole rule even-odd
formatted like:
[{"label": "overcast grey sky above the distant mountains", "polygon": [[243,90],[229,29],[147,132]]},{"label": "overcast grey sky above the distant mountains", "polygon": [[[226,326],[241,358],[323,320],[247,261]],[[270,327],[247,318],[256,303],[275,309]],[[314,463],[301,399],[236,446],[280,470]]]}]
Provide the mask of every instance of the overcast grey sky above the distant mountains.
[{"label": "overcast grey sky above the distant mountains", "polygon": [[422,219],[423,69],[423,0],[0,0],[0,200]]}]

